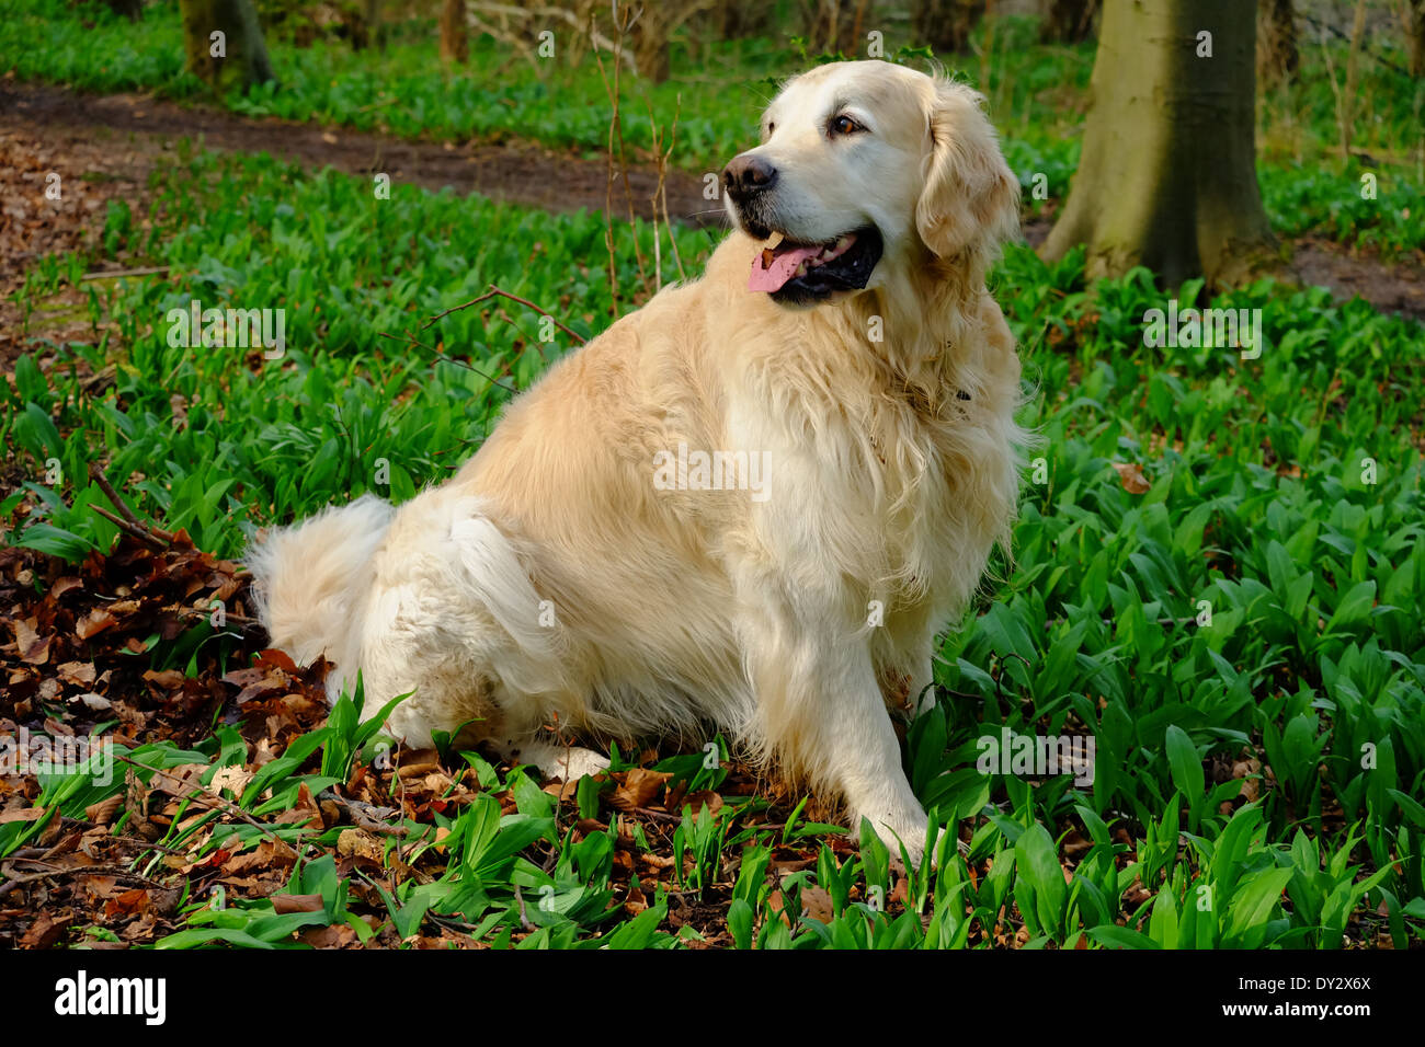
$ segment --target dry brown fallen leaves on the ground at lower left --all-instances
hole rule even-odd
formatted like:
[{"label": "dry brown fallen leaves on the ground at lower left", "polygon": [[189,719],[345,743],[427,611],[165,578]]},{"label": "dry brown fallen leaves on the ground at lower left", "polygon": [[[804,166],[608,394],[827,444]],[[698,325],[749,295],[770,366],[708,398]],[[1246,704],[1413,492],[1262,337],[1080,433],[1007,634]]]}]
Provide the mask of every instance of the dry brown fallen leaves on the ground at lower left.
[{"label": "dry brown fallen leaves on the ground at lower left", "polygon": [[[229,838],[235,826],[259,821],[238,811],[231,798],[295,738],[325,724],[325,665],[299,670],[282,651],[262,650],[265,637],[252,623],[247,578],[234,563],[194,548],[182,533],[151,536],[124,534],[113,554],[91,554],[77,566],[33,550],[0,551],[0,640],[6,641],[0,644],[0,734],[16,736],[23,729],[30,736],[83,738],[103,728],[130,748],[167,739],[190,749],[209,738],[215,724],[228,724],[247,744],[245,759],[221,769],[207,786],[200,779],[208,764],[184,764],[147,783],[118,764],[115,775],[124,776],[125,788],[83,819],[36,806],[37,778],[24,768],[6,768],[0,823],[48,822],[30,846],[0,860],[0,947],[151,944],[187,926],[180,909],[185,889],[190,902],[221,892],[227,899],[271,899],[279,913],[319,906],[314,897],[288,893],[299,859],[294,846],[275,838],[238,846]],[[214,625],[215,603],[224,608],[222,628]],[[181,644],[188,630],[204,624],[225,635],[200,645],[191,664],[152,668],[154,644]],[[665,754],[648,749],[638,758],[653,764],[660,755]],[[319,758],[318,751],[304,769],[315,772]],[[433,749],[399,749],[378,764],[356,761],[345,783],[319,796],[302,786],[289,811],[261,819],[266,826],[304,826],[304,860],[321,850],[332,855],[338,875],[349,882],[351,910],[378,932],[369,947],[400,943],[376,885],[390,890],[406,880],[426,883],[457,860],[442,846],[412,858],[408,835],[415,829],[400,828],[402,819],[423,825],[433,825],[436,815],[453,819],[482,791],[457,754],[442,761]],[[509,771],[496,766],[502,778]],[[798,796],[740,765],[718,792],[690,793],[687,781],[647,766],[610,778],[597,818],[580,816],[574,783],[556,781],[544,789],[557,801],[560,835],[573,829],[577,842],[614,826],[607,887],[611,905],[621,910],[617,917],[647,909],[661,886],[670,896],[664,930],[691,926],[711,946],[730,944],[725,917],[741,848],[724,852],[701,896],[683,890],[673,838],[684,805],[718,815],[730,798],[755,795],[770,799],[771,808],[740,813],[738,826],[775,828]],[[509,788],[493,796],[502,813],[516,811]],[[182,828],[214,806],[222,808],[222,816],[184,849],[155,849],[175,821]],[[828,815],[804,812],[814,819]],[[316,836],[335,836],[335,843],[316,843]],[[774,849],[770,875],[779,879],[815,868],[822,842],[838,860],[854,852],[844,836],[794,840]],[[140,856],[144,860],[135,862]],[[551,868],[559,852],[539,840],[524,856]],[[802,899],[808,915],[825,903],[815,890]],[[470,930],[460,920],[428,915],[410,943],[472,946]],[[519,930],[513,940],[530,930]],[[343,924],[309,927],[298,937],[316,947],[361,946],[356,932]]]}]

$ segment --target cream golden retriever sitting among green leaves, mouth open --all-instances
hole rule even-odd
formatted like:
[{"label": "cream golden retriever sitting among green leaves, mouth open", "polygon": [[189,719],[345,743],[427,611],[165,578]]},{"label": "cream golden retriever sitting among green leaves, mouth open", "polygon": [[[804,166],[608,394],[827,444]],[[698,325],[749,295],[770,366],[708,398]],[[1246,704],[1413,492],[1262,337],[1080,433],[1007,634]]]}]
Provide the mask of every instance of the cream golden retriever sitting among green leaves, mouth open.
[{"label": "cream golden retriever sitting among green leaves, mouth open", "polygon": [[[1026,434],[985,274],[1019,182],[983,100],[884,61],[789,80],[734,229],[517,396],[446,483],[249,550],[272,642],[365,715],[571,779],[583,739],[728,732],[892,855],[928,818],[888,704],[1007,553]],[[705,735],[703,735],[705,736]]]}]

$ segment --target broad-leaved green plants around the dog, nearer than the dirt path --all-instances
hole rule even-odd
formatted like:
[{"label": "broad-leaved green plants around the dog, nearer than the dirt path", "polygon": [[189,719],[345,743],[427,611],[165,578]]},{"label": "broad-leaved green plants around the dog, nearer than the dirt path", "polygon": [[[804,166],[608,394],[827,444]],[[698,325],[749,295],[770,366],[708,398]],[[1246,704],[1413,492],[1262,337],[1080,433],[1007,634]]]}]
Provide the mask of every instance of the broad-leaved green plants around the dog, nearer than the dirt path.
[{"label": "broad-leaved green plants around the dog, nearer than the dirt path", "polygon": [[[378,332],[416,332],[492,281],[581,335],[610,318],[596,217],[413,188],[376,201],[363,179],[208,154],[161,168],[152,199],[147,234],[113,208],[97,252],[168,275],[93,291],[93,343],[40,345],[0,389],[0,434],[30,477],[0,510],[38,506],[11,544],[77,557],[113,541],[90,510],[101,500],[90,462],[140,511],[219,554],[238,553],[248,526],[366,490],[402,500],[479,443],[507,397],[494,376],[523,387],[567,346],[539,342],[534,313],[493,303],[419,335],[470,366]],[[707,236],[678,235],[695,268]],[[47,259],[16,303],[76,288],[94,261]],[[623,279],[634,282],[627,261]],[[352,920],[363,939],[373,923],[409,939],[457,920],[493,946],[678,946],[698,932],[671,933],[664,887],[630,915],[614,883],[617,849],[661,846],[678,890],[715,899],[745,947],[1419,947],[1425,330],[1261,282],[1210,302],[1261,309],[1267,345],[1243,360],[1147,348],[1144,311],[1166,302],[1144,271],[1087,285],[1080,255],[1046,265],[1010,248],[995,291],[1020,340],[1023,422],[1043,437],[1042,462],[1017,563],[946,638],[942,701],[911,726],[905,758],[933,821],[968,829],[968,855],[950,846],[901,885],[874,835],[846,852],[797,812],[760,823],[755,802],[717,815],[690,805],[663,842],[641,828],[624,839],[611,816],[576,832],[600,811],[596,783],[554,803],[524,769],[452,754],[472,795],[402,819],[409,849],[382,856],[393,883],[376,890],[308,855],[288,893],[319,896],[319,910],[190,897],[185,929],[162,944],[285,946],[301,927]],[[1174,295],[1208,303],[1196,282]],[[194,296],[285,308],[286,356],[170,346],[165,313]],[[111,386],[86,380],[108,362]],[[68,480],[41,480],[51,459]],[[378,459],[389,484],[375,483]],[[1146,490],[1130,491],[1116,464],[1141,469]],[[168,648],[148,657],[168,664]],[[1092,783],[980,773],[980,739],[1006,728],[1092,735]],[[318,795],[376,759],[361,731],[338,707],[234,795],[261,828],[190,826],[165,845],[212,855],[276,833],[329,846],[278,819],[304,786]],[[191,751],[125,755],[197,764],[207,781],[242,759],[222,725]],[[634,765],[616,755],[616,768]],[[701,752],[654,766],[690,792],[721,783]],[[123,788],[41,783],[40,803],[76,816]],[[37,825],[0,825],[0,855]],[[774,872],[787,842],[814,862]],[[422,859],[423,876],[400,873]]]}]

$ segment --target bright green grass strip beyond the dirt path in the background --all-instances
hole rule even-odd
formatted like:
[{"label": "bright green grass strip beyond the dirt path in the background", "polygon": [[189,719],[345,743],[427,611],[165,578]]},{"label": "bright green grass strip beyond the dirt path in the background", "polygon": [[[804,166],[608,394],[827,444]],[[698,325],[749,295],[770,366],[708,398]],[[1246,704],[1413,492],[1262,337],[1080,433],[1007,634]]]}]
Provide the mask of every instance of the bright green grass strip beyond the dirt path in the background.
[{"label": "bright green grass strip beyond the dirt path in the background", "polygon": [[[200,81],[182,68],[175,4],[145,9],[141,26],[97,3],[71,9],[66,0],[14,0],[13,7],[0,24],[0,70],[90,91],[204,97]],[[998,20],[993,40],[983,31],[973,40],[976,48],[992,47],[988,54],[949,56],[946,64],[988,94],[1026,207],[1037,214],[1067,194],[1077,165],[1093,46],[1039,44],[1035,30],[1029,20]],[[921,53],[908,50],[916,41],[898,33],[903,30],[892,27],[888,34],[888,51],[921,61]],[[563,41],[557,60],[529,63],[506,44],[479,37],[469,66],[453,73],[442,70],[435,31],[422,21],[395,27],[385,54],[353,53],[341,41],[296,47],[274,37],[268,44],[281,85],[225,100],[234,111],[402,137],[527,138],[583,155],[603,155],[607,147],[606,87],[593,57],[571,40]],[[1381,44],[1371,41],[1372,48]],[[815,60],[787,36],[707,43],[685,34],[677,47],[674,68],[697,74],[663,84],[626,78],[623,134],[648,157],[657,125],[668,128],[677,114],[674,164],[693,172],[720,171],[730,145],[748,141],[777,83]],[[1344,46],[1332,47],[1340,71]],[[1387,64],[1389,56],[1375,57],[1385,61],[1361,58],[1358,111],[1371,117],[1361,121],[1345,160],[1335,154],[1327,63],[1320,47],[1304,47],[1298,83],[1260,100],[1258,181],[1273,226],[1284,236],[1314,232],[1411,256],[1425,244],[1425,83]],[[1362,174],[1378,179],[1372,198],[1362,197]],[[1035,192],[1040,177],[1043,198]]]}]

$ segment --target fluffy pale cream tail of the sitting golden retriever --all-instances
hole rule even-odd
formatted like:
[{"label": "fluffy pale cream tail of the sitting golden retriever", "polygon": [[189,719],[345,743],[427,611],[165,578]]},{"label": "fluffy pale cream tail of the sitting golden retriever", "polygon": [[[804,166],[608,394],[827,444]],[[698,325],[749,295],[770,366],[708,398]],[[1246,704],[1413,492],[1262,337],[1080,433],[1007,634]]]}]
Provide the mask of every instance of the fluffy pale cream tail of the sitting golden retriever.
[{"label": "fluffy pale cream tail of the sitting golden retriever", "polygon": [[365,494],[248,547],[258,617],[278,647],[301,665],[319,655],[335,662],[329,694],[361,664],[361,617],[370,590],[372,558],[386,537],[395,507]]}]

